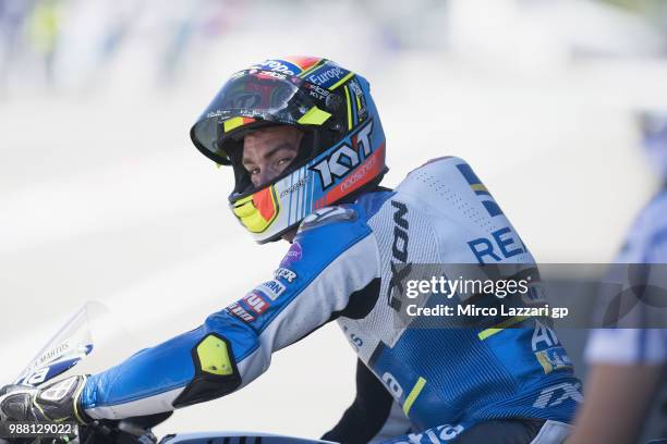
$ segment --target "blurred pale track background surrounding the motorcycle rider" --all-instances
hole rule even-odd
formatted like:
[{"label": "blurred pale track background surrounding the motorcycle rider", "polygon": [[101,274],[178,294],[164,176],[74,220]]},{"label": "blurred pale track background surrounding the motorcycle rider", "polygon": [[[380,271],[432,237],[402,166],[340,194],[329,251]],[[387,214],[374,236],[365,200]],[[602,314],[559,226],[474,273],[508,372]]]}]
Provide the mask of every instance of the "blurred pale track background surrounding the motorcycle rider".
[{"label": "blurred pale track background surrounding the motorcycle rider", "polygon": [[[660,185],[636,116],[667,108],[665,0],[0,0],[0,385],[86,300],[122,359],[270,275],[287,244],[253,244],[189,131],[231,73],[283,54],[371,81],[387,186],[462,157],[539,262],[610,261]],[[354,362],[327,325],[158,433],[318,436]]]}]

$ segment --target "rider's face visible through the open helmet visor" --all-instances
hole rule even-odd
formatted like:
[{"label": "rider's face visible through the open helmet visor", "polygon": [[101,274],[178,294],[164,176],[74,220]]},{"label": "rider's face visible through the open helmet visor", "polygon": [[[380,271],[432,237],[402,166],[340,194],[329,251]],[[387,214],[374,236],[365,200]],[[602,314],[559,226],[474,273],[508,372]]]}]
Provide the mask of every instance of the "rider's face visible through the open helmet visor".
[{"label": "rider's face visible through the open helmet visor", "polygon": [[292,126],[271,126],[243,138],[243,168],[255,187],[276,178],[299,153],[303,132]]}]

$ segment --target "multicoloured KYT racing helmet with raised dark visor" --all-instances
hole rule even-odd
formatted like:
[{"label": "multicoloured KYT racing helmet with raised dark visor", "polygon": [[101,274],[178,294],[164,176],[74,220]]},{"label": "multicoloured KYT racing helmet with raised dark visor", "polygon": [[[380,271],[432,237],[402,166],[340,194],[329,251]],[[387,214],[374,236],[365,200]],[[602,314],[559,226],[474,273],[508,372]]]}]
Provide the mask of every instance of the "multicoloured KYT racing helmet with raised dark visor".
[{"label": "multicoloured KYT racing helmet with raised dark visor", "polygon": [[[275,125],[303,132],[299,152],[280,175],[256,187],[241,163],[243,137]],[[233,170],[230,208],[259,244],[377,185],[388,171],[368,82],[322,58],[270,59],[234,73],[190,137],[204,156]]]}]

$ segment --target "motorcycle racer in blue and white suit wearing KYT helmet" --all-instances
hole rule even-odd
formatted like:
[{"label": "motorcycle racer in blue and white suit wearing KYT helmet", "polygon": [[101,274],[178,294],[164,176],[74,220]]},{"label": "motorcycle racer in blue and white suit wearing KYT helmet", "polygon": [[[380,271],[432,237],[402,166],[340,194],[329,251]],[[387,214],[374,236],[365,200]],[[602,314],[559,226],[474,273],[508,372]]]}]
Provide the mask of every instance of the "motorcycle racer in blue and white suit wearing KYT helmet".
[{"label": "motorcycle racer in blue and white suit wearing KYT helmet", "polygon": [[272,276],[197,329],[107,371],[4,387],[2,419],[171,412],[243,387],[274,351],[337,320],[359,356],[357,393],[325,439],[565,441],[581,384],[548,326],[521,317],[519,329],[396,323],[414,263],[534,259],[459,158],[430,160],[393,190],[379,186],[386,140],[364,77],[322,58],[266,60],[231,76],[191,138],[233,171],[230,207],[254,239],[291,244]]}]

